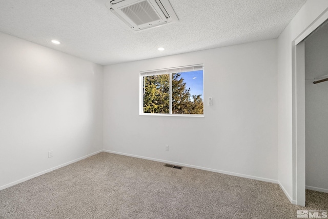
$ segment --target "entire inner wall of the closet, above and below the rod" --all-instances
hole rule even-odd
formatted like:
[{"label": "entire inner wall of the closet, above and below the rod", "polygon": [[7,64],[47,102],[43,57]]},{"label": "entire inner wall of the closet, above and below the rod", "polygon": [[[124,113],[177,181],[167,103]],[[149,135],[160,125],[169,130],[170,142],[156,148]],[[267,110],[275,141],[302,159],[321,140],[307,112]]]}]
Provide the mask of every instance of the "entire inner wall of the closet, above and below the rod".
[{"label": "entire inner wall of the closet, above and below the rod", "polygon": [[305,41],[306,188],[328,192],[328,24]]}]

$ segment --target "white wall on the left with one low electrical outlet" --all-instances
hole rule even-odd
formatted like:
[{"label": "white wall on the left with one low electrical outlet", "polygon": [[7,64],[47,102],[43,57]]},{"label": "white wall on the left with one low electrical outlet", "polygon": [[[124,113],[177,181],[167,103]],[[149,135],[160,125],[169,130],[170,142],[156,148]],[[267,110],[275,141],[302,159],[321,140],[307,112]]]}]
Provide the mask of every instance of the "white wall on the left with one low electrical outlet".
[{"label": "white wall on the left with one low electrical outlet", "polygon": [[0,33],[0,189],[101,150],[102,128],[103,66]]}]

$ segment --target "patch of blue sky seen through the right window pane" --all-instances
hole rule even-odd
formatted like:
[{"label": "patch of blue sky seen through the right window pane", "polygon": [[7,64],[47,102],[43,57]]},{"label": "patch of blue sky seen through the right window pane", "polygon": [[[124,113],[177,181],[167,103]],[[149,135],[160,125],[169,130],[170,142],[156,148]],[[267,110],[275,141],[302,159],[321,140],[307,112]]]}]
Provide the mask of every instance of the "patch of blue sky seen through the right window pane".
[{"label": "patch of blue sky seen through the right window pane", "polygon": [[201,98],[204,100],[203,96],[203,71],[188,71],[181,72],[181,76],[186,83],[186,87],[190,88],[191,95],[199,95],[201,94]]}]

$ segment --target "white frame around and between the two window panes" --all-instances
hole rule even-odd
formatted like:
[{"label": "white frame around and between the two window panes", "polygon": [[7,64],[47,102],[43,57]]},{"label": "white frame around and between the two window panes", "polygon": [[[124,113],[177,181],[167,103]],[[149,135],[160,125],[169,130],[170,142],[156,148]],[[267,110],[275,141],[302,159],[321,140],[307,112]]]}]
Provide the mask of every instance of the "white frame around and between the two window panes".
[{"label": "white frame around and between the two window panes", "polygon": [[[188,71],[203,71],[203,114],[173,114],[172,113],[172,74],[179,72]],[[144,113],[144,76],[160,75],[160,74],[170,74],[170,113]],[[190,66],[180,66],[173,68],[140,71],[139,73],[139,115],[146,116],[181,116],[181,117],[204,117],[205,115],[205,94],[204,94],[204,65],[190,65]]]}]

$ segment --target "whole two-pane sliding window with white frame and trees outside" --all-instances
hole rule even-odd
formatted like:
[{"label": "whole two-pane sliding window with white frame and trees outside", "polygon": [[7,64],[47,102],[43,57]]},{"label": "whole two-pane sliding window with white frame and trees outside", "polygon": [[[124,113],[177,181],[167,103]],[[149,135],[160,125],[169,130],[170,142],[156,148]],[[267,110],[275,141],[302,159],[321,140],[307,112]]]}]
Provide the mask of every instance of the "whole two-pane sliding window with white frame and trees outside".
[{"label": "whole two-pane sliding window with white frame and trees outside", "polygon": [[203,116],[203,66],[140,72],[140,114]]}]

